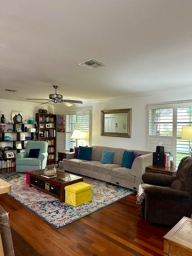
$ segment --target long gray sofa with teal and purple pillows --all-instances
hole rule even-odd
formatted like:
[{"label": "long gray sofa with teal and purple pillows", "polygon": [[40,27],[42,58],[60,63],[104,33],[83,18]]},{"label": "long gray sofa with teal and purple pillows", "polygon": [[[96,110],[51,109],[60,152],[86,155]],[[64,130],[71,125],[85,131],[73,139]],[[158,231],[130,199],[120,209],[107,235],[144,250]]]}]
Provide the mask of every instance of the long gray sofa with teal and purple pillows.
[{"label": "long gray sofa with teal and purple pillows", "polygon": [[[104,146],[90,145],[89,147],[93,147],[91,161],[74,158],[74,152],[69,152],[67,158],[63,159],[64,170],[137,190],[142,181],[142,174],[146,172],[146,167],[152,165],[152,152]],[[115,152],[112,164],[100,162],[104,149]],[[122,157],[125,150],[141,154],[134,160],[131,169],[122,167]]]}]

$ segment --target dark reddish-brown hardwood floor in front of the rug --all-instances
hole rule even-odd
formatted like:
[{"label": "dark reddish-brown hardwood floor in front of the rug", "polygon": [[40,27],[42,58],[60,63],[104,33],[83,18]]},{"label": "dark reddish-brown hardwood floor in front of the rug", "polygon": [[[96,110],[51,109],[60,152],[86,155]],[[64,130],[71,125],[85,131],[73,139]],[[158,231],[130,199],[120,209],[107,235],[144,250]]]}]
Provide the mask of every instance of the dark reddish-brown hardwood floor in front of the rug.
[{"label": "dark reddish-brown hardwood floor in front of the rug", "polygon": [[60,229],[7,194],[0,195],[0,204],[9,212],[16,256],[158,256],[172,228],[147,223],[136,194]]}]

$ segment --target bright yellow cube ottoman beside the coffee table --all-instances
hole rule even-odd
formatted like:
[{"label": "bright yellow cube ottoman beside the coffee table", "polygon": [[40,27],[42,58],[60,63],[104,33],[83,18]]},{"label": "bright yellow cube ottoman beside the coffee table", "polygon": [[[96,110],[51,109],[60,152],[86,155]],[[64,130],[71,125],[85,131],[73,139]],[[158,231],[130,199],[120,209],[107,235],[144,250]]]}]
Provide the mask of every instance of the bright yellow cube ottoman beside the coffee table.
[{"label": "bright yellow cube ottoman beside the coffee table", "polygon": [[85,182],[77,182],[65,187],[65,202],[73,206],[91,201],[92,186]]}]

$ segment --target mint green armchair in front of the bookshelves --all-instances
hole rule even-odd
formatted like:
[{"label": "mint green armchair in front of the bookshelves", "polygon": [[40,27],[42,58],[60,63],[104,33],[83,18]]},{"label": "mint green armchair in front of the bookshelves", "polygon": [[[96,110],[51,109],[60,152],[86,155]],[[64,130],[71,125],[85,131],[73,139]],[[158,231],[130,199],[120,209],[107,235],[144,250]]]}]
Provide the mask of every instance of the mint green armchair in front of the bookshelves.
[{"label": "mint green armchair in front of the bookshelves", "polygon": [[47,163],[47,148],[46,141],[28,141],[25,151],[15,155],[16,172],[44,169]]}]

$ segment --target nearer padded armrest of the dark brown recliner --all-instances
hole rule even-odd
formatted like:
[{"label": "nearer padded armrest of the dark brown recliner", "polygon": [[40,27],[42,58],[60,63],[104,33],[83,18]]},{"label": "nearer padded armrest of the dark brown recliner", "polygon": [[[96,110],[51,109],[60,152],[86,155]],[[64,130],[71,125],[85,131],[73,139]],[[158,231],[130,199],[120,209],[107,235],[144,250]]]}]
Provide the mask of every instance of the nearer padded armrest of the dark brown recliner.
[{"label": "nearer padded armrest of the dark brown recliner", "polygon": [[[192,199],[192,195],[190,192],[180,191],[172,188],[151,186],[151,187],[146,187],[144,189],[144,192],[146,196],[152,195],[156,197],[162,197],[165,199],[173,199],[173,200],[180,200],[180,199],[191,200]],[[157,201],[158,201],[158,198],[157,198]]]}]

